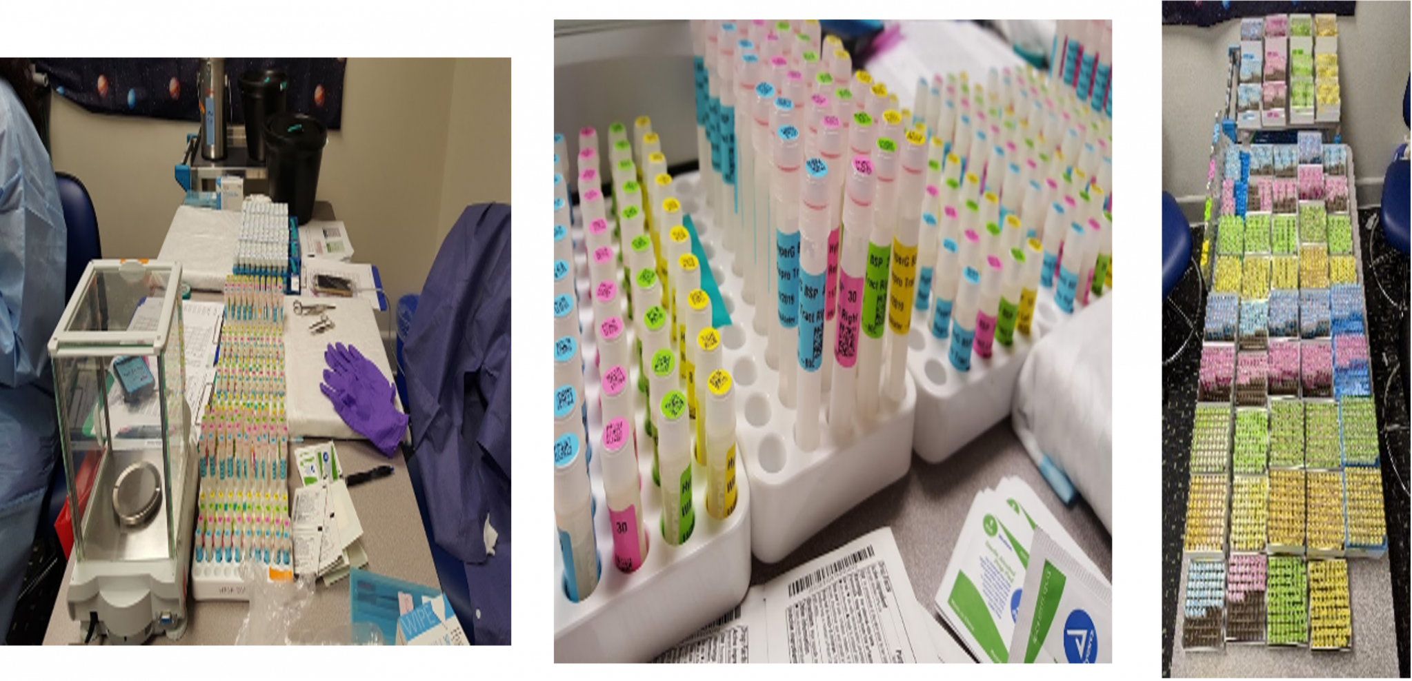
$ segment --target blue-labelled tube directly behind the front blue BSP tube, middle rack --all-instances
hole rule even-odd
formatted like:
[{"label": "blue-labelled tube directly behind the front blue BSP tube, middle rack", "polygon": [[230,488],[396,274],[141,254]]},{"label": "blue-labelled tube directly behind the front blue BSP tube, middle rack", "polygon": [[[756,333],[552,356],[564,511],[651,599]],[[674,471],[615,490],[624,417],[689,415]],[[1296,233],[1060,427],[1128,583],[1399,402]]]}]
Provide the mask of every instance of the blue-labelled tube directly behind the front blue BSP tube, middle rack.
[{"label": "blue-labelled tube directly behind the front blue BSP tube, middle rack", "polygon": [[[779,402],[786,407],[795,406],[795,362],[798,352],[799,326],[799,166],[802,165],[803,140],[799,128],[788,124],[781,125],[775,134],[774,161],[775,175],[771,188],[774,190],[775,219],[775,248],[778,266],[778,310],[779,326],[778,338],[781,347],[779,361]],[[768,351],[765,361],[770,361]]]}]

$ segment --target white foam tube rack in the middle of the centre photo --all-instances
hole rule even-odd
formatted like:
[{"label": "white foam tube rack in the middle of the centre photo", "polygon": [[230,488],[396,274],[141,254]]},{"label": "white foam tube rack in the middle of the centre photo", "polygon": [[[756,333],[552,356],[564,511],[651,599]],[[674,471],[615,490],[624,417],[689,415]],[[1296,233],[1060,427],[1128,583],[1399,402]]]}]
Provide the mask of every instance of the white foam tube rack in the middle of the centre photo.
[{"label": "white foam tube rack in the middle of the centre photo", "polygon": [[[875,417],[856,422],[853,433],[843,438],[836,437],[826,422],[829,392],[822,392],[816,426],[819,446],[809,453],[801,450],[794,436],[796,412],[779,400],[779,368],[765,362],[765,336],[754,330],[754,306],[741,296],[744,282],[731,274],[734,254],[720,245],[723,233],[714,227],[706,202],[700,200],[698,178],[674,178],[672,186],[683,204],[695,209],[692,221],[731,314],[731,324],[722,329],[723,364],[741,388],[736,396],[740,409],[736,429],[754,495],[751,544],[757,558],[777,563],[858,502],[907,475],[916,389],[904,378],[901,403],[884,393]],[[774,296],[762,297],[775,305]],[[796,360],[781,357],[779,361]],[[832,357],[826,355],[825,361]],[[882,375],[885,372],[874,378],[881,381]]]}]

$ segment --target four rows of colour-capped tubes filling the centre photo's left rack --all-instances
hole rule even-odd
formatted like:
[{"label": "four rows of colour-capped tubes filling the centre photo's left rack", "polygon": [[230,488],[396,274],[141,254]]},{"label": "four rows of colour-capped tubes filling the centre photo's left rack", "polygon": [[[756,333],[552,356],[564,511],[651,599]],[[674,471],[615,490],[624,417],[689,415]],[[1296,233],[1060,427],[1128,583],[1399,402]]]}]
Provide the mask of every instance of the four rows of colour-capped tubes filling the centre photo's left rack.
[{"label": "four rows of colour-capped tubes filling the centre photo's left rack", "polygon": [[[695,475],[706,474],[706,512],[729,517],[736,508],[736,409],[730,375],[722,368],[720,336],[712,324],[709,296],[700,289],[700,266],[690,252],[690,237],[682,226],[679,202],[672,196],[671,176],[651,121],[635,121],[638,149],[654,182],[637,182],[637,164],[626,128],[610,128],[614,179],[617,182],[617,233],[623,268],[611,250],[607,214],[596,168],[596,133],[580,131],[579,186],[583,197],[583,252],[589,262],[593,329],[599,354],[594,362],[602,376],[600,405],[604,492],[614,536],[614,564],[634,571],[645,560],[648,532],[641,520],[637,468],[635,393],[645,393],[645,433],[652,440],[652,481],[662,495],[661,532],[666,543],[679,546],[695,527],[692,499]],[[565,157],[562,135],[555,135],[556,162]],[[569,216],[562,185],[562,166],[555,179],[555,517],[565,557],[565,585],[572,601],[592,592],[599,574],[593,551],[587,461],[592,447],[585,440],[583,360],[578,321],[575,244],[569,237]],[[644,210],[657,204],[659,211]],[[655,216],[655,217],[654,217]],[[674,226],[672,228],[665,228]],[[648,231],[651,230],[651,231]],[[662,233],[666,234],[662,234]],[[671,262],[671,266],[666,264]],[[626,295],[620,295],[626,290]],[[626,300],[624,300],[626,299]],[[627,317],[624,317],[624,303]],[[633,314],[633,310],[637,314]],[[637,338],[627,341],[627,319]],[[635,357],[634,357],[635,355]],[[637,365],[634,389],[631,369]],[[698,376],[700,379],[698,379]],[[585,465],[578,451],[583,450]],[[628,454],[627,450],[631,450]],[[671,481],[662,485],[662,479]]]}]

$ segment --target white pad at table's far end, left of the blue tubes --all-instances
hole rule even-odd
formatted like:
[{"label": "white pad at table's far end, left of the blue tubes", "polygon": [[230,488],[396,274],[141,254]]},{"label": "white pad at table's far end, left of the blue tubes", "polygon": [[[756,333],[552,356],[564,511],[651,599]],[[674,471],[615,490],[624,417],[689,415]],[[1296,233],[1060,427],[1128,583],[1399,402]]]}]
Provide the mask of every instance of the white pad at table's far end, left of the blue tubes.
[{"label": "white pad at table's far end, left of the blue tubes", "polygon": [[157,259],[181,262],[181,281],[220,292],[236,264],[240,211],[178,206]]}]

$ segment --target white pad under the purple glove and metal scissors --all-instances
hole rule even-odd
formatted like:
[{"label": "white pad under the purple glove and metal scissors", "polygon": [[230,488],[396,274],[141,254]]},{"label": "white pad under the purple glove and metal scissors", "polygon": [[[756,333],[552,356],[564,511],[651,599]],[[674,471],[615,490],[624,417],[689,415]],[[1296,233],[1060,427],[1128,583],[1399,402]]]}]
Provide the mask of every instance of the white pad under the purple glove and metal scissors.
[{"label": "white pad under the purple glove and metal scissors", "polygon": [[[337,307],[325,312],[333,321],[333,329],[316,336],[309,333],[309,326],[319,317],[318,314],[295,314],[295,300],[301,300],[302,305],[336,305]],[[339,413],[333,410],[333,403],[319,389],[319,384],[323,382],[323,369],[328,368],[323,351],[330,343],[357,347],[363,357],[377,365],[383,378],[388,384],[393,382],[393,371],[387,362],[387,351],[377,330],[373,309],[356,297],[345,300],[285,296],[284,313],[289,320],[284,330],[284,379],[289,436],[361,440],[363,436],[343,423]],[[393,403],[398,412],[405,413],[397,395],[393,396]]]}]

